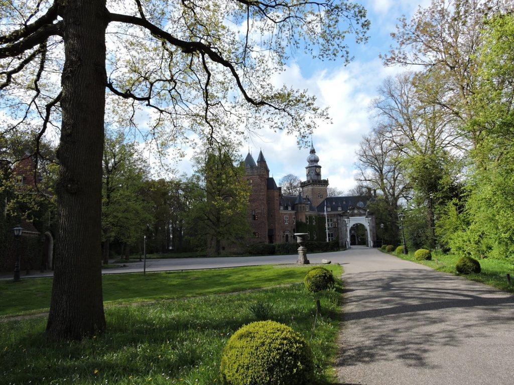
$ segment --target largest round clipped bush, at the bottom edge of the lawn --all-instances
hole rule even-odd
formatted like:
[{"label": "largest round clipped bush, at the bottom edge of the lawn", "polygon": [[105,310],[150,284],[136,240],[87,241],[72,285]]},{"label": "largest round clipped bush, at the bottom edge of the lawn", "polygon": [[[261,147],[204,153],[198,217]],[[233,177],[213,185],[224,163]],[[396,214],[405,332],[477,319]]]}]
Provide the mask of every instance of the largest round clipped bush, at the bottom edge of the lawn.
[{"label": "largest round clipped bush, at the bottom edge of the lawn", "polygon": [[221,360],[224,385],[310,385],[313,354],[305,339],[289,326],[258,321],[229,339]]}]

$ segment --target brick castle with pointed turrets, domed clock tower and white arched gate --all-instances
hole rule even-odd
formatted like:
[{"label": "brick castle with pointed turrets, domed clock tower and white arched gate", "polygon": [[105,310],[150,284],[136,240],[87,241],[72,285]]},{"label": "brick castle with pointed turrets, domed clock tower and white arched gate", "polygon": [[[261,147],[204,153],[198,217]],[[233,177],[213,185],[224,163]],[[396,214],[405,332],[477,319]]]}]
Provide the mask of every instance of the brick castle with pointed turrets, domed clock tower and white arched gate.
[{"label": "brick castle with pointed turrets, domed clock tower and white arched gate", "polygon": [[[249,220],[256,242],[294,242],[295,233],[306,233],[311,241],[337,239],[341,247],[375,245],[375,218],[368,209],[372,198],[327,197],[328,180],[321,178],[319,157],[312,144],[305,167],[306,180],[301,182],[298,196],[282,194],[282,188],[269,176],[262,150],[257,162],[248,153],[245,167],[251,184]],[[365,233],[362,227],[359,232],[359,224]]]}]

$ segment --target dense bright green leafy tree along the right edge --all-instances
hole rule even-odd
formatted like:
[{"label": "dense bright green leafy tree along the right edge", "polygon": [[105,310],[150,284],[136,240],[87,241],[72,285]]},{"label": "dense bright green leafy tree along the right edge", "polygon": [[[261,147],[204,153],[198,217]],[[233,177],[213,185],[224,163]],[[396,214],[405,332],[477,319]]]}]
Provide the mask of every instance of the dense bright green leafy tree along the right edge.
[{"label": "dense bright green leafy tree along the right edge", "polygon": [[513,37],[511,13],[494,15],[484,29],[481,87],[471,100],[475,111],[468,122],[468,129],[480,130],[482,137],[471,152],[467,200],[458,202],[465,209],[446,218],[449,225],[460,225],[449,239],[452,250],[474,258],[514,259]]}]

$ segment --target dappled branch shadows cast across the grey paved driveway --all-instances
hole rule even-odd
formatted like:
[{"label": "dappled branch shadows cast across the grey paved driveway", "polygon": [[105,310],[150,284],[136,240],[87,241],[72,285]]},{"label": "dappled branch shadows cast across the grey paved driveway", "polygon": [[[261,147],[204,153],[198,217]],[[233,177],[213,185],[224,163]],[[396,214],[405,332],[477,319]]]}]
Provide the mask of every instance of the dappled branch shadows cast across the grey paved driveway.
[{"label": "dappled branch shadows cast across the grey paved driveway", "polygon": [[438,351],[487,341],[514,324],[514,296],[463,278],[412,268],[345,274],[343,281],[339,370],[381,362],[436,369]]}]

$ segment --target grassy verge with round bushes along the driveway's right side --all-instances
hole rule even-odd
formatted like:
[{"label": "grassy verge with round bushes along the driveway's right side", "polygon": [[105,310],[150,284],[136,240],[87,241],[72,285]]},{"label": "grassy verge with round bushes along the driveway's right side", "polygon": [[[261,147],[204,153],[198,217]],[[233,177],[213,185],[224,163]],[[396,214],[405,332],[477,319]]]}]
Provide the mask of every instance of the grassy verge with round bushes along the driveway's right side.
[{"label": "grassy verge with round bushes along the driveway's right side", "polygon": [[452,254],[442,254],[432,252],[431,261],[418,261],[414,259],[414,254],[395,254],[398,258],[405,259],[408,261],[420,263],[432,267],[433,269],[446,272],[458,276],[465,277],[467,279],[482,282],[490,286],[497,287],[501,290],[514,293],[514,284],[507,283],[507,273],[511,275],[512,282],[514,282],[514,265],[507,261],[500,261],[495,259],[481,259],[480,265],[482,271],[479,274],[458,274],[455,270],[455,264],[457,263],[458,257]]}]

